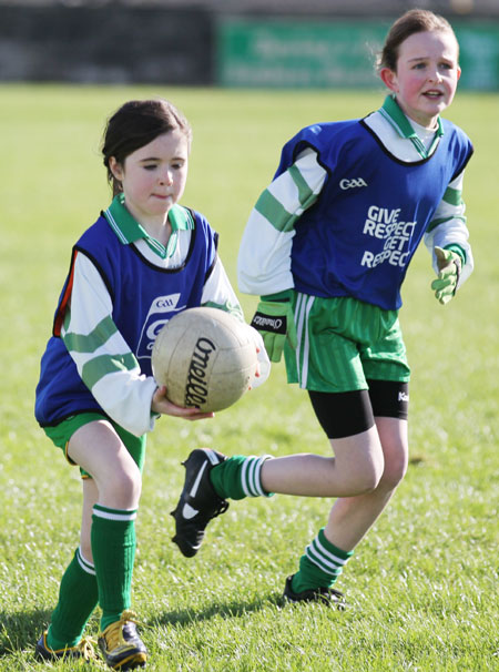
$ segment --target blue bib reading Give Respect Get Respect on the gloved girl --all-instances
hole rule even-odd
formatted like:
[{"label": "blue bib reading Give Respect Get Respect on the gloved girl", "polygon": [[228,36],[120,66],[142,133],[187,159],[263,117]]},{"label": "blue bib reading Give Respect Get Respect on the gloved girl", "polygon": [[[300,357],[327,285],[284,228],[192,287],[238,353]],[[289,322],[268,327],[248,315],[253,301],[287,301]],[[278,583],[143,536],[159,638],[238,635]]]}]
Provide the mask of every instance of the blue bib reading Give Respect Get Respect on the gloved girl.
[{"label": "blue bib reading Give Respect Get Respect on the gloved girl", "polygon": [[295,288],[399,308],[407,266],[449,183],[470,159],[471,142],[444,120],[435,152],[405,163],[361,120],[315,124],[284,146],[276,176],[307,146],[327,177],[317,203],[296,224]]}]

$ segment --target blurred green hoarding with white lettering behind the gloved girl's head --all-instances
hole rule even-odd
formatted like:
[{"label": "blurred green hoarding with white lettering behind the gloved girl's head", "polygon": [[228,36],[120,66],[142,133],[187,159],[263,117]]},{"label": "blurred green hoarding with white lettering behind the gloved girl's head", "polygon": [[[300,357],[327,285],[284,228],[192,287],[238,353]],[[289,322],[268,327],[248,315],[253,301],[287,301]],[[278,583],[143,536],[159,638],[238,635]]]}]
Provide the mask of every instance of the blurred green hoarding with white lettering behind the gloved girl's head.
[{"label": "blurred green hoarding with white lettering behind the gloved girl's head", "polygon": [[[373,88],[376,55],[391,21],[224,19],[218,24],[222,86]],[[499,90],[499,23],[454,23],[461,88]]]}]

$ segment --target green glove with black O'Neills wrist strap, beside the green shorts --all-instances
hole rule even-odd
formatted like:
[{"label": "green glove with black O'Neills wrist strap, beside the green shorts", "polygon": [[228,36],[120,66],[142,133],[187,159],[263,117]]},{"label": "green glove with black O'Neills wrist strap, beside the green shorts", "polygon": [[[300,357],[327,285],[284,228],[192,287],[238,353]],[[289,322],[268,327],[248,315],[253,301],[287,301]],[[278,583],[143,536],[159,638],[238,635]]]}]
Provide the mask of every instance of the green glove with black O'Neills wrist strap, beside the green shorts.
[{"label": "green glove with black O'Neills wrist strap, beside the green shorts", "polygon": [[296,327],[291,292],[262,296],[252,319],[252,327],[262,334],[271,362],[281,362],[286,338],[296,348]]}]

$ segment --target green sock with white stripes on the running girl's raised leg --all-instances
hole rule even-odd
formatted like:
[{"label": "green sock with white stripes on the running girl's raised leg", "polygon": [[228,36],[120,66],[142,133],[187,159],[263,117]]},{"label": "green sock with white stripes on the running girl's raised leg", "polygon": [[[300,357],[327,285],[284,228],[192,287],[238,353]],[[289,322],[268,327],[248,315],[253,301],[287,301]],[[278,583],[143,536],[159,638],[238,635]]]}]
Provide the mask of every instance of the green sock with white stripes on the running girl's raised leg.
[{"label": "green sock with white stripes on the running girl's raised leg", "polygon": [[222,499],[244,499],[245,497],[272,497],[259,480],[262,465],[269,455],[263,457],[244,457],[235,455],[210,471],[210,479],[215,492]]}]

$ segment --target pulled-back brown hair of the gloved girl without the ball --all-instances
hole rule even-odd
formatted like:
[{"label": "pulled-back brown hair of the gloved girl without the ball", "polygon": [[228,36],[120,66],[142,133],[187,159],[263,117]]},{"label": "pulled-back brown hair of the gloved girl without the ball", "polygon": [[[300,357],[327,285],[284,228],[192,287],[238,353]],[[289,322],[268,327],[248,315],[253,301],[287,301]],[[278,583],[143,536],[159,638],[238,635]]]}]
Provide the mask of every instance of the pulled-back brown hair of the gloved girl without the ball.
[{"label": "pulled-back brown hair of the gloved girl without the ball", "polygon": [[[378,57],[378,71],[381,68],[389,68],[394,72],[397,71],[398,50],[400,44],[410,35],[417,32],[450,32],[455,38],[456,34],[450,23],[444,17],[435,14],[425,9],[411,9],[399,17],[391,26],[383,48]],[[457,43],[457,38],[456,38]],[[459,49],[459,47],[458,47]]]}]

